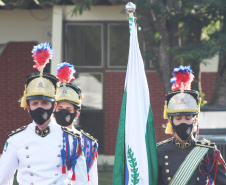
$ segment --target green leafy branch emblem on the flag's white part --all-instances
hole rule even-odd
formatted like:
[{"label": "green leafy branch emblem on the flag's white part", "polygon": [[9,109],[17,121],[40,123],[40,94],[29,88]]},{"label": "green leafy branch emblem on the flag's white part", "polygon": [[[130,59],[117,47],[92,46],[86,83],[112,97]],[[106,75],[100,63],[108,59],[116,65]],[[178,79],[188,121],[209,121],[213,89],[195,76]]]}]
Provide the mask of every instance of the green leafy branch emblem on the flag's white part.
[{"label": "green leafy branch emblem on the flag's white part", "polygon": [[127,155],[128,161],[129,161],[129,165],[131,167],[131,181],[133,183],[133,185],[136,185],[139,183],[139,173],[138,173],[138,168],[137,168],[137,161],[136,158],[134,157],[134,153],[132,151],[132,149],[128,146],[128,155]]}]

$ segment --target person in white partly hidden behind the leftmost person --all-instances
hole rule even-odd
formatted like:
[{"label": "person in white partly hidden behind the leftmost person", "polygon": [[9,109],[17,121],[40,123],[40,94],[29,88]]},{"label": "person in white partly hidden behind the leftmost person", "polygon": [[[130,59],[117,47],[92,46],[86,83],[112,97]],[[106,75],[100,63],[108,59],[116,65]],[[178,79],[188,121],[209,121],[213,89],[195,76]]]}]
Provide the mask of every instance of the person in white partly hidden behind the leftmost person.
[{"label": "person in white partly hidden behind the leftmost person", "polygon": [[77,85],[70,83],[74,79],[74,66],[64,62],[57,67],[57,77],[61,84],[56,95],[57,108],[54,112],[56,122],[68,128],[68,130],[73,130],[82,135],[82,147],[86,158],[89,185],[98,185],[97,140],[83,130],[76,130],[73,125],[73,121],[80,115],[83,98],[81,89]]}]

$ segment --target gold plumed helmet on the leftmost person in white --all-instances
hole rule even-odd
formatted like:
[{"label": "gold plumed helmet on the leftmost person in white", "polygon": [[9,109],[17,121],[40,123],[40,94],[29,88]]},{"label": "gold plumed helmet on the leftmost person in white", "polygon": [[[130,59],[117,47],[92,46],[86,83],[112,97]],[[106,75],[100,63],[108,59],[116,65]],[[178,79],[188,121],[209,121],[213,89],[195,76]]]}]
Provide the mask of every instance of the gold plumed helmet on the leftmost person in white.
[{"label": "gold plumed helmet on the leftmost person in white", "polygon": [[49,43],[41,43],[33,47],[32,57],[34,59],[34,68],[39,72],[31,73],[27,76],[24,95],[21,99],[21,107],[27,107],[27,100],[42,99],[55,101],[56,89],[59,79],[52,74],[43,73],[43,69],[49,60],[52,59],[52,50]]}]

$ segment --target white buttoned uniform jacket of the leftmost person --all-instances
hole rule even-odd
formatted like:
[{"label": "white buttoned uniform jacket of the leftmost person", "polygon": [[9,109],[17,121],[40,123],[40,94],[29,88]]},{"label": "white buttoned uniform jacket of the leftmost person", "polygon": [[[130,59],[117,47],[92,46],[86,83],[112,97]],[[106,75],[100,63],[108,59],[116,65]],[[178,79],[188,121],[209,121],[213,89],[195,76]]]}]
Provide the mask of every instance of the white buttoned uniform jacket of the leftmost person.
[{"label": "white buttoned uniform jacket of the leftmost person", "polygon": [[[50,133],[41,137],[35,133],[32,122],[23,131],[9,137],[0,159],[0,185],[12,185],[17,170],[20,185],[67,184],[72,172],[62,174],[61,149],[63,130],[55,120],[49,123]],[[69,135],[70,151],[73,138]],[[85,157],[78,158],[75,166],[76,180],[72,185],[88,185]]]}]

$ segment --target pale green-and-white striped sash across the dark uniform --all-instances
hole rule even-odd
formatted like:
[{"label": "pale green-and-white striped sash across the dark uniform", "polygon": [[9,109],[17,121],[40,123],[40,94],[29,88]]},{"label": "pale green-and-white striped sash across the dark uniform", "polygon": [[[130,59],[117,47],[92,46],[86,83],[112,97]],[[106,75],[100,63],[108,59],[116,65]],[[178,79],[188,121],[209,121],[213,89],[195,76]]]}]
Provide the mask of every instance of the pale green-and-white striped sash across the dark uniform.
[{"label": "pale green-and-white striped sash across the dark uniform", "polygon": [[180,165],[169,185],[187,184],[209,148],[196,146]]}]

